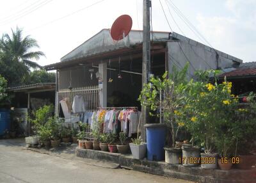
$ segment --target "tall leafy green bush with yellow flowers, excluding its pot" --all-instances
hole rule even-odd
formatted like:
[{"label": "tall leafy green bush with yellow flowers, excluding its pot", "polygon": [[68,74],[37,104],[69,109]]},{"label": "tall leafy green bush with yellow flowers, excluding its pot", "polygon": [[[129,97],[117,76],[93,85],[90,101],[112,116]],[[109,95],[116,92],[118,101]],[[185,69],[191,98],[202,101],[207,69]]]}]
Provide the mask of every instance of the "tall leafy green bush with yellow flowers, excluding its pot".
[{"label": "tall leafy green bush with yellow flowers, excluding its pot", "polygon": [[[210,74],[205,72],[205,74]],[[202,76],[202,75],[201,75]],[[205,77],[206,78],[206,77]],[[202,79],[202,77],[201,77]],[[193,142],[202,145],[205,153],[211,153],[214,149],[216,127],[218,122],[227,121],[230,109],[237,104],[237,99],[232,99],[232,83],[224,81],[218,84],[209,79],[201,81],[191,80],[186,90],[186,105],[180,109],[180,121],[191,132]],[[183,124],[182,124],[183,125]]]}]

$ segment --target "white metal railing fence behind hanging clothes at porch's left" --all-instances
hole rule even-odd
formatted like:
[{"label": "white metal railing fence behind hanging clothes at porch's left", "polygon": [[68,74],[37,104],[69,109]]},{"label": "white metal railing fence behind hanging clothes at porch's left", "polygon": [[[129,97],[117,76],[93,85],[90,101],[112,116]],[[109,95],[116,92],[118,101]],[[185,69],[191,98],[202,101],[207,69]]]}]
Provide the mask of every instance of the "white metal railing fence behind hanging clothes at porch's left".
[{"label": "white metal railing fence behind hanging clothes at porch's left", "polygon": [[56,115],[60,113],[60,100],[68,98],[72,104],[76,95],[83,96],[86,111],[94,111],[100,107],[99,94],[101,89],[99,86],[86,86],[81,88],[61,89],[56,92]]}]

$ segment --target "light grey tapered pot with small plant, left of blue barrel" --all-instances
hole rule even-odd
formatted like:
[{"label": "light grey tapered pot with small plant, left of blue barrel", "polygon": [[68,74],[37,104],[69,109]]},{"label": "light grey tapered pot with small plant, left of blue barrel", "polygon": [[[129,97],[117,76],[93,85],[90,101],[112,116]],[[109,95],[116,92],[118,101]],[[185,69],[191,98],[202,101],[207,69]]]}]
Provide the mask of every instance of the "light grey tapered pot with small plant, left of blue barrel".
[{"label": "light grey tapered pot with small plant, left of blue barrel", "polygon": [[147,150],[147,143],[144,143],[141,137],[132,139],[132,143],[129,143],[132,156],[134,159],[143,159]]}]

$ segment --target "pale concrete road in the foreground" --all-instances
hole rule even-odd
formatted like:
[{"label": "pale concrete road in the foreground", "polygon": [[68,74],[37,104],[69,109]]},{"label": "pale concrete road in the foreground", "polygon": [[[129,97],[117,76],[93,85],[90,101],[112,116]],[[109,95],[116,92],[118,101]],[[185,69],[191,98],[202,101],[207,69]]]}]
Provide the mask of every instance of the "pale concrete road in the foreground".
[{"label": "pale concrete road in the foreground", "polygon": [[140,173],[132,170],[92,166],[71,159],[63,159],[24,150],[24,144],[0,140],[0,182],[100,182],[135,183],[189,181]]}]

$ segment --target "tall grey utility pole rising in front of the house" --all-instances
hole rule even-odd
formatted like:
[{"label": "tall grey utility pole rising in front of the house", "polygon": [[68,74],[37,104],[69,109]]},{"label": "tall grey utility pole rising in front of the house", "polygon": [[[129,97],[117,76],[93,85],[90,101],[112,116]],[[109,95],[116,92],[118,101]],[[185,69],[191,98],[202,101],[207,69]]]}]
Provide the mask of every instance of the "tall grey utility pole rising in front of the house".
[{"label": "tall grey utility pole rising in front of the house", "polygon": [[[143,60],[142,60],[142,87],[148,83],[150,74],[150,0],[143,0]],[[144,96],[143,96],[144,97]],[[145,141],[145,123],[148,122],[148,110],[141,106],[141,137]]]}]

